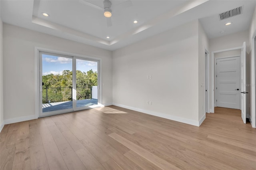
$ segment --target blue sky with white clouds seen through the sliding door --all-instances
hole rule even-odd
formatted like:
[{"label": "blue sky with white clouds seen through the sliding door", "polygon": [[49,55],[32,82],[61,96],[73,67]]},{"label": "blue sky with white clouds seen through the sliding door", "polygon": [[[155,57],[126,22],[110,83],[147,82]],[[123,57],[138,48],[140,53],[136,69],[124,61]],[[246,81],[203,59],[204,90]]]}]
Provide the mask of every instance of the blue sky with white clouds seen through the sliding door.
[{"label": "blue sky with white clouds seen through the sliding door", "polygon": [[[97,62],[86,61],[77,59],[76,60],[76,69],[82,72],[97,71]],[[62,74],[63,70],[72,71],[72,59],[66,57],[56,57],[53,55],[42,55],[42,75],[48,74]]]}]

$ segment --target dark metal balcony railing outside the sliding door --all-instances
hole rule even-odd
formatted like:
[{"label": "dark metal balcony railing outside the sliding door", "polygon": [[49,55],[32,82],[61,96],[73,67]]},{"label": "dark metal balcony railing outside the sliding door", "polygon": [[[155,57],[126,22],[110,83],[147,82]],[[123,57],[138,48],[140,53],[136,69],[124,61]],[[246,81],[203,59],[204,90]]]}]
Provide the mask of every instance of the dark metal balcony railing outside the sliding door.
[{"label": "dark metal balcony railing outside the sliding door", "polygon": [[[92,87],[76,87],[76,100],[92,99]],[[72,101],[72,87],[44,87],[42,103]]]}]

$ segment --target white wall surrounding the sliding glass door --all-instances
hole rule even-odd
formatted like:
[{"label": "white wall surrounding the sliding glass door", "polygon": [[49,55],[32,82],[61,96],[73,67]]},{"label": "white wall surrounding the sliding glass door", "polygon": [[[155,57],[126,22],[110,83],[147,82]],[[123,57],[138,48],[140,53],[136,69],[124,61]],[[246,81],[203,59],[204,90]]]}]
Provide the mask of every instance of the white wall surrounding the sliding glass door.
[{"label": "white wall surrounding the sliding glass door", "polygon": [[112,103],[112,52],[27,30],[3,25],[4,119],[35,115],[35,46],[102,59],[102,104]]}]

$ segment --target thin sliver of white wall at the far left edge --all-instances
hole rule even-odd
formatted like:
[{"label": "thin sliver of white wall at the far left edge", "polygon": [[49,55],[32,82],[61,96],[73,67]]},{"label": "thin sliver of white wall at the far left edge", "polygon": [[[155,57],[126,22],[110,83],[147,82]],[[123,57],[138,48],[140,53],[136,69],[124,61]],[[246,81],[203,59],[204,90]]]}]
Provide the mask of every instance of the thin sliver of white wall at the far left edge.
[{"label": "thin sliver of white wall at the far left edge", "polygon": [[3,71],[3,22],[0,16],[0,132],[4,127]]}]

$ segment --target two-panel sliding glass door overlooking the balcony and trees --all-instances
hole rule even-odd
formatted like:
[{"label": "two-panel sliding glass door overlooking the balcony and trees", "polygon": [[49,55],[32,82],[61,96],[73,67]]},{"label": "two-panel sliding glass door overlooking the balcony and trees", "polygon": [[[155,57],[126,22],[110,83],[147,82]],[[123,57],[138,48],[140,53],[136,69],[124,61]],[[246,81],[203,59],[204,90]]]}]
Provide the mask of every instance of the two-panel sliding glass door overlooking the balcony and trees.
[{"label": "two-panel sliding glass door overlooking the balcony and trees", "polygon": [[40,51],[40,117],[98,105],[98,62]]}]

